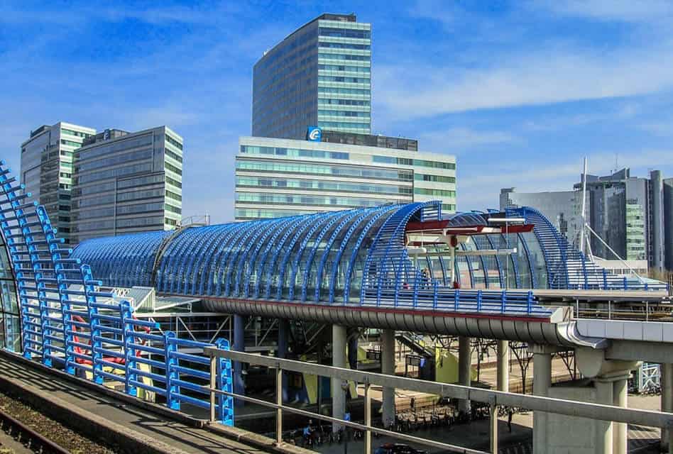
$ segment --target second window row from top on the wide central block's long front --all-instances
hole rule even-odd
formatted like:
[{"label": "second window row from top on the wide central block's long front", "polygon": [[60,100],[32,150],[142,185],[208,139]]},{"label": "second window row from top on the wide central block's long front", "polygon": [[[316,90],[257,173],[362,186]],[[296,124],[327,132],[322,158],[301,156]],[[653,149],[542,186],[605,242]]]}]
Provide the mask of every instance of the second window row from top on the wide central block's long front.
[{"label": "second window row from top on the wide central block's long front", "polygon": [[257,170],[261,172],[291,172],[314,175],[340,175],[342,177],[380,178],[410,182],[413,174],[406,170],[387,170],[372,167],[351,167],[341,165],[304,164],[300,162],[268,162],[237,160],[238,170]]}]

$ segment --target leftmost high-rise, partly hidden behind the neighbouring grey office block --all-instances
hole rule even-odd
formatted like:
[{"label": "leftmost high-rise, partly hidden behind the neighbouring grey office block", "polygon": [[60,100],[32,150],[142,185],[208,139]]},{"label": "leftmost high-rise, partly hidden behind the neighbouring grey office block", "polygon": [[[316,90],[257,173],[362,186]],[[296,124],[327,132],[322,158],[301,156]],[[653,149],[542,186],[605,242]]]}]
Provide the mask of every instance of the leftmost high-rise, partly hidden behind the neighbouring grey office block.
[{"label": "leftmost high-rise, partly hidden behind the neighbouring grey office block", "polygon": [[70,242],[70,199],[73,153],[95,129],[60,121],[31,131],[21,144],[21,182],[44,205],[59,236]]}]

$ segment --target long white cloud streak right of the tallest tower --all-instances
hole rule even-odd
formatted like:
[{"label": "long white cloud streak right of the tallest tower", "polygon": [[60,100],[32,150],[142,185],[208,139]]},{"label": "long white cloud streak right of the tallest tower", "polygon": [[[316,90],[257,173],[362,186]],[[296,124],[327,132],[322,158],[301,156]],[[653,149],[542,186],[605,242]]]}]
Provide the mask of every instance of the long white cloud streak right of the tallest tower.
[{"label": "long white cloud streak right of the tallest tower", "polygon": [[478,69],[404,62],[377,67],[376,100],[393,118],[419,118],[650,94],[673,87],[673,62],[665,57],[672,52],[671,43],[613,52],[547,48]]}]

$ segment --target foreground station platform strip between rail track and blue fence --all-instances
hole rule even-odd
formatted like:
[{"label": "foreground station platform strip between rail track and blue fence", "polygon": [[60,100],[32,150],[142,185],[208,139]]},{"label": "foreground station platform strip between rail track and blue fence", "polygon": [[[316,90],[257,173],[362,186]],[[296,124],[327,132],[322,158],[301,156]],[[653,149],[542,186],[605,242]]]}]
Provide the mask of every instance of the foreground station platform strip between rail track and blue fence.
[{"label": "foreground station platform strip between rail track and blue fence", "polygon": [[[270,450],[263,448],[269,443],[266,437],[258,436],[256,443],[249,444],[236,441],[231,437],[252,440],[256,434],[219,425],[224,430],[216,432],[202,419],[89,384],[5,351],[0,351],[0,387],[51,419],[120,452],[262,454]],[[290,453],[289,447],[273,450]],[[300,451],[304,450],[292,448],[292,453]]]}]

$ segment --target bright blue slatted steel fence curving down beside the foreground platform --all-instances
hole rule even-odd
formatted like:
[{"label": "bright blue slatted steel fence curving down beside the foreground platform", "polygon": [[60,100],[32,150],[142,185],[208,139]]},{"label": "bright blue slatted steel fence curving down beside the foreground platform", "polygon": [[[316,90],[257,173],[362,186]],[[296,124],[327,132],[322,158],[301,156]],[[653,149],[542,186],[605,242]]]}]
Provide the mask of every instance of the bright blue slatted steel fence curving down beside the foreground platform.
[{"label": "bright blue slatted steel fence curving down beside the foreground platform", "polygon": [[[118,384],[138,397],[153,392],[180,410],[210,408],[209,359],[203,348],[229,349],[228,341],[201,343],[133,317],[128,301],[101,292],[91,268],[70,258],[43,206],[23,203],[30,193],[0,161],[0,230],[15,274],[23,355],[97,384]],[[231,392],[231,362],[217,364],[218,389]],[[219,395],[219,421],[234,424],[233,398]]]}]

